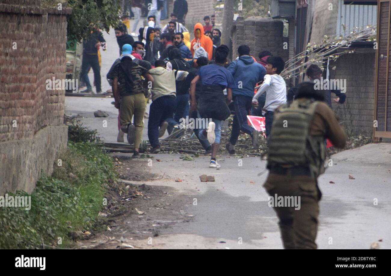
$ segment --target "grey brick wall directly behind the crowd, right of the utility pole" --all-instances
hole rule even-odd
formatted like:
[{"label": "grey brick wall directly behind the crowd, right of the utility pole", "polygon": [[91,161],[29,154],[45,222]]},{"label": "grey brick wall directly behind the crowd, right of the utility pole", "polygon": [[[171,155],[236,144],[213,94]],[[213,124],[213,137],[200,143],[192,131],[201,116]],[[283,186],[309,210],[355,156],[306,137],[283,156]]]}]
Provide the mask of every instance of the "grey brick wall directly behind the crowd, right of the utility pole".
[{"label": "grey brick wall directly behind the crowd, right of the utility pole", "polygon": [[[283,60],[288,58],[288,50],[283,49],[283,22],[277,19],[250,16],[237,20],[232,28],[233,59],[237,57],[237,48],[242,44],[250,47],[250,55],[258,60],[258,53],[269,50],[274,56],[280,56]],[[289,49],[289,47],[288,47]]]}]

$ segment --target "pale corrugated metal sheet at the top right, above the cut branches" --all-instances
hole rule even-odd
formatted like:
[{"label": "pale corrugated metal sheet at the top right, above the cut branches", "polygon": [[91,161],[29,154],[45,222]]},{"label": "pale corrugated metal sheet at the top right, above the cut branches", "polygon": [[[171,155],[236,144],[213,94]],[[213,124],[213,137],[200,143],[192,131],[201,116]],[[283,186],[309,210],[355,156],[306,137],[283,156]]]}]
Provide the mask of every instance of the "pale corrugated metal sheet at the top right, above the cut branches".
[{"label": "pale corrugated metal sheet at the top right, above the cut branches", "polygon": [[[377,23],[376,5],[344,5],[343,0],[339,0],[337,34],[347,35],[348,30],[354,27],[366,26]],[[346,26],[343,31],[342,24]]]}]

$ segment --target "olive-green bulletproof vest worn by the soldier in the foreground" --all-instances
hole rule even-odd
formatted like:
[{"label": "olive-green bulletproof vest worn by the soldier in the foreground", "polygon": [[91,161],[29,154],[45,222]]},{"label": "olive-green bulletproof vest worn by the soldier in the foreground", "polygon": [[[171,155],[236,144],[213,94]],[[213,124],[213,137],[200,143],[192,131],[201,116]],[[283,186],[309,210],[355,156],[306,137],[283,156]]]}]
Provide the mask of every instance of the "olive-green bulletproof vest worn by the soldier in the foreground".
[{"label": "olive-green bulletproof vest worn by the soldier in the foreground", "polygon": [[267,168],[275,165],[309,167],[315,179],[325,172],[325,138],[309,134],[317,103],[313,99],[295,100],[280,106],[274,113]]}]

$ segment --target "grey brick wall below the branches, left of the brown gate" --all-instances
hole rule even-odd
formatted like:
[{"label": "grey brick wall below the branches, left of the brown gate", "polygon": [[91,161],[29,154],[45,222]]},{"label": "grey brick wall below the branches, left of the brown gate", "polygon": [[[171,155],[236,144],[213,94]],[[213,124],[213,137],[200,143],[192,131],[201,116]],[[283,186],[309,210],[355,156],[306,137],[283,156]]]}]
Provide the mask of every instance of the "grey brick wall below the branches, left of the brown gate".
[{"label": "grey brick wall below the branches, left of the brown gate", "polygon": [[[346,79],[346,101],[333,103],[333,110],[347,131],[373,131],[375,106],[375,53],[345,54],[330,63],[330,78]],[[331,68],[330,67],[330,68]],[[335,94],[332,94],[335,97]]]}]

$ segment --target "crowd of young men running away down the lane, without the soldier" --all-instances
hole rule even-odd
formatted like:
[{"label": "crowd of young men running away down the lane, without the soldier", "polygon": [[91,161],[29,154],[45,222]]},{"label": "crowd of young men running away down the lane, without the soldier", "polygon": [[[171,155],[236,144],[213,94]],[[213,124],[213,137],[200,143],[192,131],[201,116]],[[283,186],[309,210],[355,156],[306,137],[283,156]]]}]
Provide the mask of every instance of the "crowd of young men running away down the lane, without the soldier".
[{"label": "crowd of young men running away down the lane, without the soldier", "polygon": [[[251,136],[253,148],[258,149],[259,132],[249,126],[247,115],[251,111],[251,115],[265,117],[265,136],[268,137],[271,133],[276,108],[287,101],[292,101],[293,97],[298,94],[298,87],[291,88],[287,93],[285,81],[280,76],[285,65],[282,58],[273,57],[269,51],[262,51],[258,55],[259,61],[257,62],[255,58],[250,56],[249,46],[241,45],[237,49],[238,58],[233,62],[228,62],[227,47],[220,45],[221,32],[216,28],[213,29],[213,32],[209,30],[209,26],[212,24],[210,24],[208,16],[204,18],[206,28],[201,23],[195,24],[194,39],[191,42],[188,39],[185,41],[184,33],[188,36],[188,30],[177,21],[176,14],[171,14],[171,21],[162,30],[153,27],[154,16],[149,16],[148,19],[151,23],[147,27],[140,28],[138,41],[135,42],[132,41],[130,35],[124,32],[124,26],[120,25],[115,29],[118,46],[121,47],[122,53],[120,58],[114,62],[107,78],[113,85],[116,107],[120,110],[126,109],[126,111],[119,112],[118,141],[123,141],[121,133],[124,132],[130,138],[128,142],[140,142],[138,131],[142,128],[140,120],[143,117],[137,115],[136,120],[135,116],[135,122],[132,124],[132,116],[135,114],[134,101],[130,107],[131,111],[129,111],[129,107],[126,108],[120,104],[122,95],[129,96],[129,92],[121,92],[121,89],[133,87],[132,89],[138,92],[136,94],[143,92],[145,97],[150,96],[145,90],[152,93],[151,107],[153,108],[149,113],[148,126],[152,153],[160,152],[158,138],[163,136],[166,129],[168,133],[171,133],[182,118],[189,116],[193,119],[205,119],[206,122],[209,122],[208,126],[194,129],[194,131],[205,152],[212,153],[210,166],[220,166],[217,164],[215,156],[221,137],[221,125],[231,114],[231,111],[233,111],[234,117],[231,137],[229,143],[225,145],[226,150],[230,154],[235,154],[235,144],[240,132]],[[186,42],[190,44],[190,49]],[[129,76],[136,76],[143,81],[132,81],[130,84],[128,83],[127,88],[123,85],[120,87],[117,85],[114,89],[116,86],[115,76],[118,77],[117,83],[121,83],[119,76],[120,73],[123,73],[123,69],[120,64],[125,57],[127,57],[125,59],[127,68],[130,68]],[[133,67],[128,63],[139,65],[145,71],[137,71],[132,75]],[[136,69],[140,68],[135,67]],[[169,72],[173,72],[173,74]],[[312,65],[307,70],[310,80],[319,78],[320,73],[320,68],[317,65]],[[132,78],[129,77],[129,80]],[[149,80],[149,85],[146,84],[146,80]],[[262,85],[254,92],[254,88],[259,83]],[[140,85],[143,86],[135,89],[134,86]],[[344,102],[344,94],[338,91],[332,92],[339,96],[335,101]],[[331,97],[326,97],[326,99],[331,99]],[[189,106],[189,101],[191,101],[191,106]],[[330,105],[331,100],[329,102]],[[147,101],[144,100],[144,109],[140,110],[145,111],[146,103]],[[159,131],[156,130],[157,127],[160,127]],[[130,134],[133,129],[138,133],[137,135]],[[207,133],[206,129],[208,129]],[[133,136],[137,138],[133,138]],[[138,155],[139,152],[136,148],[134,157]]]}]

